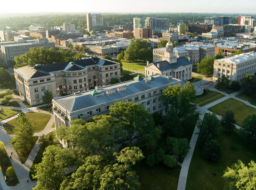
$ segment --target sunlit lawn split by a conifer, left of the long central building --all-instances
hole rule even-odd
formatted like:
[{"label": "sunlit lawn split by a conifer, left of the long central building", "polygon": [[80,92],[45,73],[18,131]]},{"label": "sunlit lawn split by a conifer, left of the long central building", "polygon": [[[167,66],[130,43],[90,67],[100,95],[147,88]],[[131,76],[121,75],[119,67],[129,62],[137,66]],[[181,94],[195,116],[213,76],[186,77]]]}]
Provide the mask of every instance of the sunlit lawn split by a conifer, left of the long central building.
[{"label": "sunlit lawn split by a conifer, left of the long central building", "polygon": [[[34,124],[35,133],[42,131],[51,119],[51,115],[37,112],[28,112],[26,113],[26,116],[29,118],[29,121],[31,121]],[[17,118],[5,123],[4,128],[7,134],[11,135],[13,133],[12,129],[15,127],[16,120]]]}]

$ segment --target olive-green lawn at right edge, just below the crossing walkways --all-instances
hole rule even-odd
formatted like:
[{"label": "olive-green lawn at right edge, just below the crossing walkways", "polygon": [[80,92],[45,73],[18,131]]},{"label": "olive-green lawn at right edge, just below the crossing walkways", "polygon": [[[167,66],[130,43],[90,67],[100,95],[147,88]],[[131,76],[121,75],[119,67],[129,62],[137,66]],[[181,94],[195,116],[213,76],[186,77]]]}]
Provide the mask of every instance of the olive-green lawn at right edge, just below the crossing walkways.
[{"label": "olive-green lawn at right edge, just below the crossing walkways", "polygon": [[243,120],[249,114],[256,113],[256,108],[247,106],[243,102],[236,100],[234,98],[229,98],[211,108],[208,108],[209,111],[215,112],[217,115],[225,116],[225,111],[228,109],[233,110],[235,113],[235,120],[238,126],[243,126]]}]

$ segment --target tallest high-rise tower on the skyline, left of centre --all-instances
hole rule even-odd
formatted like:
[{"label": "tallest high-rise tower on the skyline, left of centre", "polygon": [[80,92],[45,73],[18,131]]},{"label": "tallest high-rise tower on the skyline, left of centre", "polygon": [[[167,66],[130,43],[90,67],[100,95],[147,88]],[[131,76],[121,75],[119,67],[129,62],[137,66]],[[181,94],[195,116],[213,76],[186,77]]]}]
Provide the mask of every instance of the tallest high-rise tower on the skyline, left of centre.
[{"label": "tallest high-rise tower on the skyline, left of centre", "polygon": [[103,17],[100,13],[87,13],[87,30],[100,30],[103,26]]}]

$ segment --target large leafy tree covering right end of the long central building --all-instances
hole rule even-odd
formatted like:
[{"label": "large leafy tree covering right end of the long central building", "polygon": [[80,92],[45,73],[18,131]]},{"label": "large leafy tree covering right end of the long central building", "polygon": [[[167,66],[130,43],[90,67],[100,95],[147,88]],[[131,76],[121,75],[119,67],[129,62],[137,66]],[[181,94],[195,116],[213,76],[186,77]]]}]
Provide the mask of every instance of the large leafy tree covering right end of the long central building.
[{"label": "large leafy tree covering right end of the long central building", "polygon": [[161,99],[164,101],[166,107],[169,107],[169,104],[172,105],[179,118],[187,118],[194,113],[190,108],[194,105],[192,102],[196,99],[195,94],[195,86],[190,82],[186,82],[184,88],[180,85],[170,85],[165,88]]}]

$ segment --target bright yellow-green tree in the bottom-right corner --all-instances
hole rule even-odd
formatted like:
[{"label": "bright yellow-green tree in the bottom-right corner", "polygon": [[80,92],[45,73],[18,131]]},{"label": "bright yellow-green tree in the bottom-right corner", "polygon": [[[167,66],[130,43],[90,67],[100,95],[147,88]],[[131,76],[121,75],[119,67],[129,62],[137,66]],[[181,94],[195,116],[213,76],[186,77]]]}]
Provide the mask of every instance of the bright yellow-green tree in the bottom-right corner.
[{"label": "bright yellow-green tree in the bottom-right corner", "polygon": [[223,178],[228,183],[224,189],[255,189],[256,164],[251,160],[248,166],[245,166],[241,160],[238,160],[230,168],[228,167],[223,175]]}]

